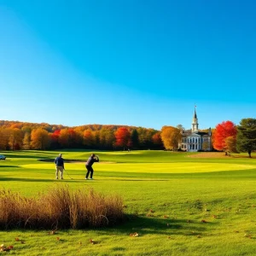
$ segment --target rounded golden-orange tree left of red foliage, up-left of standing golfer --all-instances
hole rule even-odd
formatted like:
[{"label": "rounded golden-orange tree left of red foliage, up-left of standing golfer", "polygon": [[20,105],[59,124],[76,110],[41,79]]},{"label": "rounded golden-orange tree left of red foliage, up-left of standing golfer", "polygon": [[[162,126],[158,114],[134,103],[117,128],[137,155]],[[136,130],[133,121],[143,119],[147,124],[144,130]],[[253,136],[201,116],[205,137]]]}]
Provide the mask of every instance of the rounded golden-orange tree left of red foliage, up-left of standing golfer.
[{"label": "rounded golden-orange tree left of red foliage, up-left of standing golfer", "polygon": [[33,129],[31,132],[31,147],[34,149],[46,149],[49,147],[50,137],[48,131],[43,128]]}]

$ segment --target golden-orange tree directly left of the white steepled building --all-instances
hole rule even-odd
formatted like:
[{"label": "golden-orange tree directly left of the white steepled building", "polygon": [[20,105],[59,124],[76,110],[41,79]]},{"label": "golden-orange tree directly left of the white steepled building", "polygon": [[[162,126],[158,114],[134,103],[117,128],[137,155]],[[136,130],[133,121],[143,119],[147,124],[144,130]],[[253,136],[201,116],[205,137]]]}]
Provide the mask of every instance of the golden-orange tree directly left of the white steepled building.
[{"label": "golden-orange tree directly left of the white steepled building", "polygon": [[181,133],[178,128],[163,126],[160,136],[166,149],[172,149],[174,151],[178,148],[178,143],[181,139]]}]

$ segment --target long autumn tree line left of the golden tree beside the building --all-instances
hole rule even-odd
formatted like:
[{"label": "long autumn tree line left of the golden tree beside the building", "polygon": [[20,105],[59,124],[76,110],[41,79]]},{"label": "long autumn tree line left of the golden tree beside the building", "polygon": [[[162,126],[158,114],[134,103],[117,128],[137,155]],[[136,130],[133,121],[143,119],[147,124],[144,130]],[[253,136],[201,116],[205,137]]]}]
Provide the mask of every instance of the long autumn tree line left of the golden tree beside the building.
[{"label": "long autumn tree line left of the golden tree beside the building", "polygon": [[35,124],[0,120],[0,149],[163,149],[160,131],[125,125]]}]

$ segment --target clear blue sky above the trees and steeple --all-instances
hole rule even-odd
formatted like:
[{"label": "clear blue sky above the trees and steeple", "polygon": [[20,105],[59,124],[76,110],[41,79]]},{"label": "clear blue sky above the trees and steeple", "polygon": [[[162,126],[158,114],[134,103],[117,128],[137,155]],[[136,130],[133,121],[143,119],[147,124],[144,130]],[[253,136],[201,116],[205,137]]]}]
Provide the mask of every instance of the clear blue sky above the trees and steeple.
[{"label": "clear blue sky above the trees and steeple", "polygon": [[256,2],[0,0],[0,119],[199,128],[256,118]]}]

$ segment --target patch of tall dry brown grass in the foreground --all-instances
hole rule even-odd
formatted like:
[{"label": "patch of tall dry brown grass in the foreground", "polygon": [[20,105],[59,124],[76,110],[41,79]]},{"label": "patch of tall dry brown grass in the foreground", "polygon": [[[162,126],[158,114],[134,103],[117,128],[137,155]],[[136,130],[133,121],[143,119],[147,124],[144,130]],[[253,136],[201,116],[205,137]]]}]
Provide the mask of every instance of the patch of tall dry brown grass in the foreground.
[{"label": "patch of tall dry brown grass in the foreground", "polygon": [[55,186],[47,194],[26,198],[0,191],[0,229],[84,229],[119,224],[124,219],[119,195],[102,195],[93,189],[73,191]]}]

